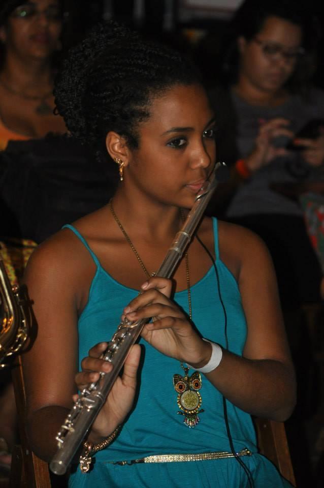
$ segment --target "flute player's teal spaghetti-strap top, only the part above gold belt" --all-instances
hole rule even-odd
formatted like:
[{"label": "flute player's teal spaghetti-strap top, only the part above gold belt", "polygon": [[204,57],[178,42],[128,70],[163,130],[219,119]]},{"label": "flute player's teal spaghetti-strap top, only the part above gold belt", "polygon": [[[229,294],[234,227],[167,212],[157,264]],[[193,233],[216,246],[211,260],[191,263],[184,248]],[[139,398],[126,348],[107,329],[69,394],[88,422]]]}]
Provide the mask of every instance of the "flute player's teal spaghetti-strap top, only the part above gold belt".
[{"label": "flute player's teal spaghetti-strap top, only the part above gold belt", "polygon": [[[71,229],[88,249],[96,265],[88,302],[79,318],[79,361],[88,355],[96,343],[109,341],[115,332],[126,304],[138,294],[111,277],[85,239]],[[229,350],[242,355],[246,340],[246,320],[237,282],[219,259],[217,220],[213,219],[216,266],[191,287],[192,321],[202,337],[225,347],[225,316],[218,293],[218,283],[227,316]],[[179,306],[188,313],[187,291],[174,296]],[[164,356],[143,339],[143,368],[136,406],[125,422],[118,439],[107,449],[96,453],[100,461],[132,460],[152,454],[186,453],[231,450],[223,416],[222,395],[202,375],[202,408],[200,423],[189,429],[184,416],[178,415],[177,392],[173,375],[183,374],[179,361]],[[80,367],[80,364],[79,364]],[[189,375],[193,370],[189,371]],[[250,415],[228,402],[228,417],[236,451],[248,447],[256,451],[254,428]]]}]

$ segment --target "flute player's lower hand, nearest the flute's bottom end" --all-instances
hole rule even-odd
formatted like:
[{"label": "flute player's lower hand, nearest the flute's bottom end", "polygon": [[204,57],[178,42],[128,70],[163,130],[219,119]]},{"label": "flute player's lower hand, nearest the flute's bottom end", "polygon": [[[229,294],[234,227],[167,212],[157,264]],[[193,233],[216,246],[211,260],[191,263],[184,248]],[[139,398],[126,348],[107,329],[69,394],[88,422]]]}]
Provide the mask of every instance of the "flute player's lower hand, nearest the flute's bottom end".
[{"label": "flute player's lower hand, nearest the flute's bottom end", "polygon": [[[89,356],[82,359],[82,371],[75,376],[79,390],[98,381],[100,372],[109,373],[113,369],[110,362],[101,359],[101,355],[107,346],[106,342],[97,344],[90,349]],[[136,391],[140,355],[141,348],[135,344],[126,357],[122,376],[117,377],[103,408],[92,424],[89,437],[94,443],[101,442],[101,438],[109,436],[131,410]],[[77,399],[77,396],[74,396],[74,400]]]}]

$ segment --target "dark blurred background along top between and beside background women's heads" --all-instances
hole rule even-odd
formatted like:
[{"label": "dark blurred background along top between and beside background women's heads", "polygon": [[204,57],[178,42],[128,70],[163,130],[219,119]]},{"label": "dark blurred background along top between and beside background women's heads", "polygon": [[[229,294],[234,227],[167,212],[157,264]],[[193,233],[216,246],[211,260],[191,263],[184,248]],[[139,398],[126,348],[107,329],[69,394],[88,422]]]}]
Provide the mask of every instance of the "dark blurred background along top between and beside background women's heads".
[{"label": "dark blurred background along top between and beside background women's heads", "polygon": [[[262,0],[261,0],[262,1]],[[154,39],[188,52],[200,67],[206,85],[219,80],[219,61],[228,25],[241,0],[66,0],[63,45],[69,48],[100,20],[115,19]],[[294,9],[295,2],[291,1]],[[315,19],[317,67],[313,82],[324,88],[324,2],[305,2],[305,15]]]}]

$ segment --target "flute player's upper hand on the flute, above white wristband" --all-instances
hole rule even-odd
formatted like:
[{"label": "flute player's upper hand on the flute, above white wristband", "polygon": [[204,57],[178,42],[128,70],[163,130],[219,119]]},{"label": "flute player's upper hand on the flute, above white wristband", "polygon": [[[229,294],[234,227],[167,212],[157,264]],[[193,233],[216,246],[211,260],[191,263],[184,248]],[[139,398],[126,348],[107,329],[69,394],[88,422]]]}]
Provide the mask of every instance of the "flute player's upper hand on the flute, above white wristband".
[{"label": "flute player's upper hand on the flute, above white wristband", "polygon": [[166,356],[200,368],[211,356],[211,346],[203,341],[189,319],[170,299],[172,282],[150,278],[142,285],[142,293],[124,309],[128,320],[154,317],[142,330],[142,337]]}]

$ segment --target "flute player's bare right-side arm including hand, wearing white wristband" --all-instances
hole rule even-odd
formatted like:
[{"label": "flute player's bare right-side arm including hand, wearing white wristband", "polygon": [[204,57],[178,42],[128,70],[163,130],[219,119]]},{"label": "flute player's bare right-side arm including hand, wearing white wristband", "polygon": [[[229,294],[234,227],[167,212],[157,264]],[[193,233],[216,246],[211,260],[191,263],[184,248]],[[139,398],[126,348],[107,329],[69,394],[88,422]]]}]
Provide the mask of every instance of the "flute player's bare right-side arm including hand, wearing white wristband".
[{"label": "flute player's bare right-side arm including hand, wearing white wristband", "polygon": [[[272,261],[261,239],[246,229],[223,224],[219,238],[226,256],[230,260],[234,256],[239,263],[237,276],[247,340],[243,357],[223,351],[219,366],[206,377],[241,409],[284,420],[295,406],[296,381]],[[144,289],[146,292],[131,302],[131,310],[124,310],[127,318],[156,317],[143,329],[143,337],[162,353],[193,367],[203,367],[211,357],[211,346],[202,341],[182,311],[168,299],[168,280],[150,279]]]}]

